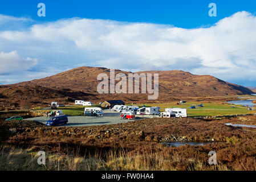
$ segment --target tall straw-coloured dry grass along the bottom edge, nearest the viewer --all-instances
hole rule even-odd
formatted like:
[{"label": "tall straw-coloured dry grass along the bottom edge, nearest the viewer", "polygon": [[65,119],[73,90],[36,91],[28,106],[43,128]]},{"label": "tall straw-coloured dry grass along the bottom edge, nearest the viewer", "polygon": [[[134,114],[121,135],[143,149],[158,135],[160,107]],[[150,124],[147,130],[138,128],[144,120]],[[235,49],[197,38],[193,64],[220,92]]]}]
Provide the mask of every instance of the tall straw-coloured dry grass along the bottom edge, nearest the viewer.
[{"label": "tall straw-coloured dry grass along the bottom edge, nearest the viewer", "polygon": [[[105,160],[99,155],[88,158],[59,153],[46,153],[46,165],[39,165],[37,152],[32,148],[21,149],[1,147],[0,170],[49,170],[49,171],[80,171],[80,170],[205,170],[205,164],[192,157],[184,160],[182,156],[169,155],[168,152],[151,154],[129,154],[126,152],[109,151]],[[186,168],[182,168],[186,163]],[[173,164],[178,164],[174,166]],[[225,165],[217,168],[227,169]]]}]

